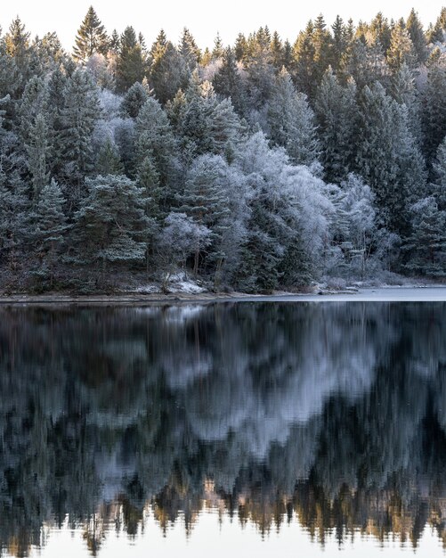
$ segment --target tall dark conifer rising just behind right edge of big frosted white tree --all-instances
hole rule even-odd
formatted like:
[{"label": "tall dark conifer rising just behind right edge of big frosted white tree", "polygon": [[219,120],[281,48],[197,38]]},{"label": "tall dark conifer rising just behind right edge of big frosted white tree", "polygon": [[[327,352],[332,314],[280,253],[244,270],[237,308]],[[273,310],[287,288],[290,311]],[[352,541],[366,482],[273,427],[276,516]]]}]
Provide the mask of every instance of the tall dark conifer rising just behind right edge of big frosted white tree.
[{"label": "tall dark conifer rising just behind right edge of big frosted white tree", "polygon": [[357,118],[356,85],[342,86],[331,69],[325,73],[316,96],[315,111],[320,139],[320,162],[328,182],[340,184],[353,170]]}]

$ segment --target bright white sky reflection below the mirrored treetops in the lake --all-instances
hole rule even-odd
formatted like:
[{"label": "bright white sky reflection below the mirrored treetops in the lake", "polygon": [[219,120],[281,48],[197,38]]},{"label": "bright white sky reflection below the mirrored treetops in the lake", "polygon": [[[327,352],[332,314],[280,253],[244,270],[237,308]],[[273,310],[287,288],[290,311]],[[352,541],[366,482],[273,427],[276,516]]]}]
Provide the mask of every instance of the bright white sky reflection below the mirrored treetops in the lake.
[{"label": "bright white sky reflection below the mirrored treetops in the lake", "polygon": [[[345,540],[342,546],[338,546],[337,540],[333,536],[326,537],[326,546],[323,549],[319,545],[314,545],[309,534],[302,529],[297,521],[289,524],[282,524],[278,534],[272,532],[262,539],[252,524],[247,524],[242,528],[239,521],[231,521],[228,516],[223,516],[219,522],[215,513],[201,513],[197,524],[189,537],[186,536],[182,521],[177,521],[169,529],[167,537],[163,536],[158,523],[153,516],[145,523],[143,532],[140,531],[134,539],[133,544],[129,545],[130,538],[125,534],[107,534],[103,541],[99,556],[107,558],[150,558],[154,556],[181,556],[182,558],[209,558],[215,557],[228,558],[228,556],[238,556],[242,553],[255,558],[280,556],[281,558],[311,558],[312,556],[340,556],[357,558],[376,558],[377,555],[383,558],[393,557],[395,554],[411,554],[414,550],[410,542],[401,546],[398,537],[389,539],[385,542],[385,547],[379,546],[373,537],[361,537],[356,533],[354,540]],[[42,558],[61,558],[61,548],[63,548],[64,558],[79,558],[87,556],[85,541],[81,532],[74,532],[65,526],[64,529],[54,530],[49,533],[47,545],[31,554],[39,555]],[[247,551],[248,549],[248,551]],[[444,557],[444,551],[438,537],[426,528],[421,537],[415,553],[417,556],[436,556]],[[7,554],[6,554],[7,555]]]}]

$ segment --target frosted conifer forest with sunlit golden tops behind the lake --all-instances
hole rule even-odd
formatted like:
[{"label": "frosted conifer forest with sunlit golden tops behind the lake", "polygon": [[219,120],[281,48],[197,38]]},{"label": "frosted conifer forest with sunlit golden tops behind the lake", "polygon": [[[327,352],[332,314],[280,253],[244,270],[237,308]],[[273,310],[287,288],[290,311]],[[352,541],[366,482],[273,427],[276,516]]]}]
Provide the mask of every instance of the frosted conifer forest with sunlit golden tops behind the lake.
[{"label": "frosted conifer forest with sunlit golden tops behind the lake", "polygon": [[0,291],[444,280],[446,8],[153,38],[1,32]]}]

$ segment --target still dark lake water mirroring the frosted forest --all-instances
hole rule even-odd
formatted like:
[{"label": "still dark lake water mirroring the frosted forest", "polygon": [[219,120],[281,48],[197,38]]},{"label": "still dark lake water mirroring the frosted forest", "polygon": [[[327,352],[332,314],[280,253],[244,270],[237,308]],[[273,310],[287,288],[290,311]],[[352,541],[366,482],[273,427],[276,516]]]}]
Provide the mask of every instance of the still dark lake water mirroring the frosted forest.
[{"label": "still dark lake water mirroring the frosted forest", "polygon": [[0,308],[2,556],[444,556],[446,304]]}]

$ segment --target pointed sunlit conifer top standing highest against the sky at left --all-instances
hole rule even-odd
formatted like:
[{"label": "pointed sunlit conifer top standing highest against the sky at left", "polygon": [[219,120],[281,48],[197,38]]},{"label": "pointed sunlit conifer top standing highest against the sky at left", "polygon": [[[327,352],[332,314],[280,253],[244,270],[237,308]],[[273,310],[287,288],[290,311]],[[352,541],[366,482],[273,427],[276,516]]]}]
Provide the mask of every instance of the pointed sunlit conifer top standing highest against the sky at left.
[{"label": "pointed sunlit conifer top standing highest against the sky at left", "polygon": [[80,63],[85,63],[95,53],[107,54],[109,50],[109,37],[101,24],[93,6],[88,8],[84,21],[77,30],[73,58]]}]

